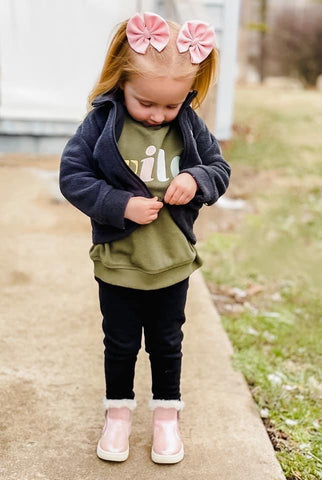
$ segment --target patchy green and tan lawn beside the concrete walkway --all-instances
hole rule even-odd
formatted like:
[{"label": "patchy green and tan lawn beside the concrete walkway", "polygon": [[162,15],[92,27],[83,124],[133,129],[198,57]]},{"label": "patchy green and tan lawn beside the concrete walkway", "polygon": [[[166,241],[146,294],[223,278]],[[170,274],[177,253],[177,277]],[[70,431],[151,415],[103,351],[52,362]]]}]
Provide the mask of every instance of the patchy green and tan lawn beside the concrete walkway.
[{"label": "patchy green and tan lawn beside the concrete walkway", "polygon": [[215,207],[203,273],[286,478],[321,479],[322,95],[239,87],[235,110],[227,196],[246,208]]}]

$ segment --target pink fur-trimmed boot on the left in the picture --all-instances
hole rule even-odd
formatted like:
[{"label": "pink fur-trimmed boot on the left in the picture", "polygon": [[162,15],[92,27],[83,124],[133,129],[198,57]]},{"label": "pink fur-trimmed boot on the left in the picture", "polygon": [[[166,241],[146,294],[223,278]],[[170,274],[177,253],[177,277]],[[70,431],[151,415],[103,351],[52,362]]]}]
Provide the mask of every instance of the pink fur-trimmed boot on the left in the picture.
[{"label": "pink fur-trimmed boot on the left in the picture", "polygon": [[136,408],[136,401],[105,399],[104,405],[105,424],[97,444],[97,456],[102,460],[124,462],[129,456],[132,411]]}]

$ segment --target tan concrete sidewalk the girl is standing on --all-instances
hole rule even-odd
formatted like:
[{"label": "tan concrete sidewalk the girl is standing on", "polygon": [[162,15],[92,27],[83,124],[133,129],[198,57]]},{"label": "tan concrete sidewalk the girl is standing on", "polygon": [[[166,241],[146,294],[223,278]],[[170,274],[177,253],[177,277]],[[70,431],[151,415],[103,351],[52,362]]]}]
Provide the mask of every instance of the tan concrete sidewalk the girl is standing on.
[{"label": "tan concrete sidewalk the girl is standing on", "polygon": [[88,220],[51,200],[34,163],[26,168],[0,159],[0,166],[0,478],[282,480],[199,272],[191,278],[184,327],[185,459],[170,466],[150,459],[144,349],[130,457],[122,464],[96,457],[104,419],[103,345]]}]

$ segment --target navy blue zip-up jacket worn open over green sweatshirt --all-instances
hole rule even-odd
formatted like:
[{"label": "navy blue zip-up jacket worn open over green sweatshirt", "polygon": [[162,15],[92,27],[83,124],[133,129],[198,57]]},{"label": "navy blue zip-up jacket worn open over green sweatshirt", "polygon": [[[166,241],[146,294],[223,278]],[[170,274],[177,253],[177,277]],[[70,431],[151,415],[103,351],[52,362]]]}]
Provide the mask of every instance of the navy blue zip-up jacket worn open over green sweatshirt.
[{"label": "navy blue zip-up jacket worn open over green sweatshirt", "polygon": [[[167,208],[191,243],[193,223],[203,204],[212,205],[226,191],[230,167],[221,156],[215,137],[189,106],[197,94],[188,94],[176,119],[183,140],[180,173],[190,173],[198,184],[186,205]],[[94,244],[129,235],[139,224],[124,218],[132,196],[152,197],[146,184],[127,166],[117,147],[124,122],[123,92],[97,97],[76,133],[64,148],[60,189],[64,197],[91,218]]]}]

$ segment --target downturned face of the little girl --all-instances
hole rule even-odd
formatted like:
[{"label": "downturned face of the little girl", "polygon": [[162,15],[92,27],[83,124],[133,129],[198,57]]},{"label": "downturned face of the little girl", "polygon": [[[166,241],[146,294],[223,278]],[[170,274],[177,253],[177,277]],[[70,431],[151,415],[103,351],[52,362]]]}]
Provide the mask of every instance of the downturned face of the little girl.
[{"label": "downturned face of the little girl", "polygon": [[192,83],[191,78],[174,80],[133,75],[122,87],[127,111],[146,127],[171,122],[178,115]]}]

